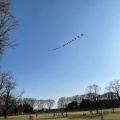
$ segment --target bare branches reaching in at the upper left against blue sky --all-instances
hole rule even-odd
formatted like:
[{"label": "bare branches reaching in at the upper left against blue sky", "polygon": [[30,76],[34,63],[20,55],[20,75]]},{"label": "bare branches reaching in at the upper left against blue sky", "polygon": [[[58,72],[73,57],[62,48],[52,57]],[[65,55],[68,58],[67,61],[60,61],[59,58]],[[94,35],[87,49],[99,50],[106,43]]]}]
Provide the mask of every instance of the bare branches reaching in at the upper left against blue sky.
[{"label": "bare branches reaching in at the upper left against blue sky", "polygon": [[0,56],[6,48],[17,44],[10,38],[10,32],[18,26],[18,21],[11,12],[11,0],[0,0]]}]

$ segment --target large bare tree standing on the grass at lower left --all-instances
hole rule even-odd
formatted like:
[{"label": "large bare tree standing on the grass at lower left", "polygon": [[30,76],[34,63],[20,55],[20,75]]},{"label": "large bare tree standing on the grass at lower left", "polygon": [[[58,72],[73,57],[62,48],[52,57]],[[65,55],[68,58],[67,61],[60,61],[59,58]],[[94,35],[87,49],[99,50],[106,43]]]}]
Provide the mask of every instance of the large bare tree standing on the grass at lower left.
[{"label": "large bare tree standing on the grass at lower left", "polygon": [[22,96],[24,91],[22,91],[21,94],[18,96],[14,95],[16,81],[10,73],[4,73],[2,81],[3,87],[0,90],[0,105],[4,114],[4,118],[7,118],[8,110],[14,105],[14,103],[16,103],[16,100]]}]

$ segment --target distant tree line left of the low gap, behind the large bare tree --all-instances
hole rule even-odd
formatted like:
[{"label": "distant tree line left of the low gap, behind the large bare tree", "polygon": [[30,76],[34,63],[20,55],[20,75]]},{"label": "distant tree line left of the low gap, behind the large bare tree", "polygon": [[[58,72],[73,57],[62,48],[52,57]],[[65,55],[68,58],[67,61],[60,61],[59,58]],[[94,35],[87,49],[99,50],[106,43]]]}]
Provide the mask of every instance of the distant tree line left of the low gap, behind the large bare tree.
[{"label": "distant tree line left of the low gap, behind the large bare tree", "polygon": [[[7,100],[7,99],[6,99]],[[21,115],[21,114],[33,114],[38,112],[51,112],[51,108],[54,106],[55,101],[52,99],[37,100],[35,98],[19,98],[8,101],[11,106],[7,111],[8,115]],[[1,116],[4,115],[4,109],[6,106],[1,104],[0,111]]]}]

